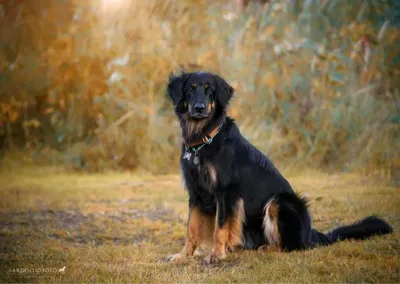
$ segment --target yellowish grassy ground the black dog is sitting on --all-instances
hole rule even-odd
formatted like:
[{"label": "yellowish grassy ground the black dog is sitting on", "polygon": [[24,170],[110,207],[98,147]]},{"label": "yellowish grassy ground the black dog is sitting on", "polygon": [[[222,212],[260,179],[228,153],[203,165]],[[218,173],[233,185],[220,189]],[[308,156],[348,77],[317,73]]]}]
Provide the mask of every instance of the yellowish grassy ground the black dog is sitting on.
[{"label": "yellowish grassy ground the black dog is sitting on", "polygon": [[399,187],[358,174],[288,179],[311,200],[317,229],[377,214],[395,233],[292,253],[236,251],[211,266],[200,257],[168,263],[185,240],[179,175],[14,165],[0,172],[0,282],[400,282]]}]

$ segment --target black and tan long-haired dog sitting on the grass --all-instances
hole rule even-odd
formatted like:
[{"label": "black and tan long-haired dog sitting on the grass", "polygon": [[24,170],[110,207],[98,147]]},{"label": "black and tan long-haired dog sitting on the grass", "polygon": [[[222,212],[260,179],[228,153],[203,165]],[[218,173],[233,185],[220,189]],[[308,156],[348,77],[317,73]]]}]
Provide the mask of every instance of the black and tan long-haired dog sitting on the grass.
[{"label": "black and tan long-haired dog sitting on the grass", "polygon": [[189,193],[186,243],[168,261],[193,256],[207,243],[212,250],[204,262],[210,264],[238,247],[293,251],[392,232],[376,216],[327,234],[313,229],[307,200],[227,116],[234,89],[222,77],[171,75],[167,92],[182,129],[180,164]]}]

